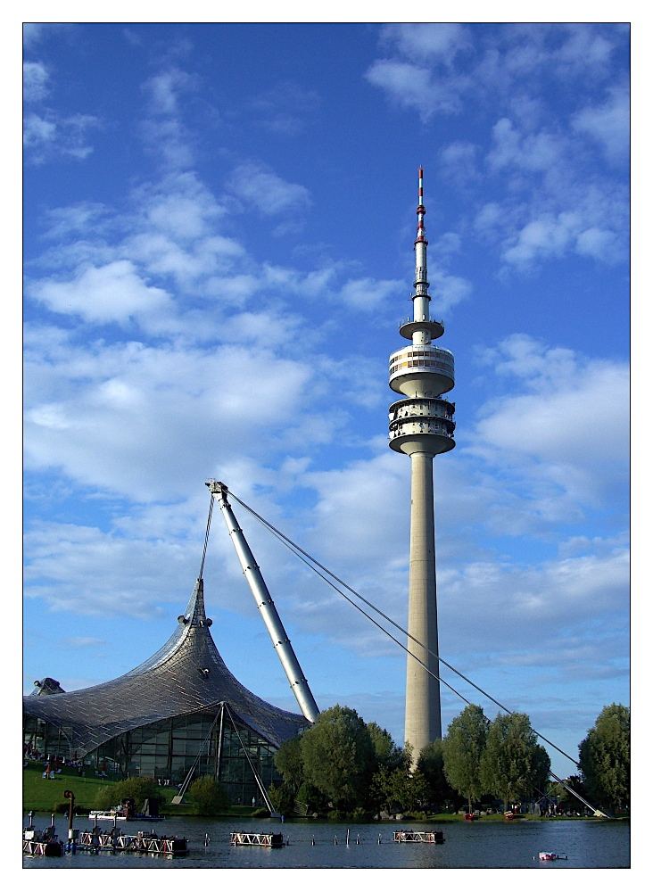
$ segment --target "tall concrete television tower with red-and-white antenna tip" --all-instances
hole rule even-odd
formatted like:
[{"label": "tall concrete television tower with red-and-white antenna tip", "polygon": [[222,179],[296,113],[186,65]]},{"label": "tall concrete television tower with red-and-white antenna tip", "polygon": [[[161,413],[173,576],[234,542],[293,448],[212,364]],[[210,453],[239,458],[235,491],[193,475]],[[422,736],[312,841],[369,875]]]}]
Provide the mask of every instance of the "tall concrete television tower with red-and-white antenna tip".
[{"label": "tall concrete television tower with red-and-white antenna tip", "polygon": [[413,764],[426,744],[442,738],[440,682],[410,655],[414,654],[435,675],[440,674],[434,656],[438,654],[438,617],[433,459],[456,445],[456,405],[442,399],[442,393],[449,392],[454,384],[453,353],[431,343],[444,334],[444,326],[432,319],[429,312],[423,184],[424,170],[419,168],[415,291],[410,296],[413,317],[399,326],[400,335],[410,343],[391,353],[389,380],[393,391],[404,395],[390,407],[390,447],[410,456],[408,631],[412,638],[408,641],[404,739],[413,749]]}]

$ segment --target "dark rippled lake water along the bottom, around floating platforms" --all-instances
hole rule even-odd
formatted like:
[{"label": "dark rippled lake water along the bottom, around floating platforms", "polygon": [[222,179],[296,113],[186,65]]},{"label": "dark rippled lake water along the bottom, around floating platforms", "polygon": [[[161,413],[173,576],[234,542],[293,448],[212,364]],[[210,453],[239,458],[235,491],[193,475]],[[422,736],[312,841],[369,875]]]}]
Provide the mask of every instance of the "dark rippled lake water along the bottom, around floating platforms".
[{"label": "dark rippled lake water along the bottom, around floating platforms", "polygon": [[[27,824],[27,819],[25,823]],[[34,824],[44,828],[49,817],[36,815]],[[68,821],[55,816],[60,838],[66,838]],[[78,818],[75,827],[90,829],[92,823]],[[107,830],[111,823],[100,825]],[[145,822],[122,823],[124,832],[150,830]],[[346,845],[347,829],[350,844]],[[442,830],[443,845],[393,842],[393,830]],[[560,871],[574,868],[630,867],[630,823],[600,821],[516,821],[455,823],[385,822],[355,824],[285,822],[272,820],[213,820],[167,818],[155,825],[160,835],[185,836],[190,852],[163,860],[161,855],[92,855],[78,852],[62,858],[24,857],[24,868],[532,868]],[[232,847],[232,830],[282,832],[288,845],[281,849]],[[210,842],[204,846],[204,835]],[[337,838],[337,845],[335,839]],[[380,838],[380,843],[379,843]],[[358,839],[358,843],[357,843]],[[567,861],[533,861],[538,852],[567,855]]]}]

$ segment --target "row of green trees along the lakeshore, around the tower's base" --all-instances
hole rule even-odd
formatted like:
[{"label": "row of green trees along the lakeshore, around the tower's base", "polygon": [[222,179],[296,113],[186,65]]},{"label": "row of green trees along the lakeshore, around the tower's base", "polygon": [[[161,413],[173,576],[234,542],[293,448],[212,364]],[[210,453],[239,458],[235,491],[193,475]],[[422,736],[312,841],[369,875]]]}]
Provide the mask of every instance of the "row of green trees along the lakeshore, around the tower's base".
[{"label": "row of green trees along the lakeshore, around the tower's base", "polygon": [[[275,756],[283,779],[269,790],[273,805],[291,814],[296,803],[309,812],[368,817],[397,812],[446,811],[499,799],[504,806],[552,789],[550,758],[524,713],[498,714],[491,721],[470,705],[450,723],[446,736],[417,759],[398,747],[388,731],[365,723],[347,706],[332,706],[316,723],[287,740]],[[579,747],[581,772],[574,788],[590,801],[616,811],[629,805],[630,712],[607,706]],[[594,797],[594,800],[591,799]]]}]

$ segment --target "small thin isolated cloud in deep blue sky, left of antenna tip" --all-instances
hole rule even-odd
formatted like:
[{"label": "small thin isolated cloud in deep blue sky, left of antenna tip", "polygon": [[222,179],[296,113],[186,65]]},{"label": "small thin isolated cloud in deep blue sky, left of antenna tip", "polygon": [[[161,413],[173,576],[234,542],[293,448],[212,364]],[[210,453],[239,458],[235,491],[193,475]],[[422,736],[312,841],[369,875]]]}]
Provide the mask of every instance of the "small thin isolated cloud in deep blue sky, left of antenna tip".
[{"label": "small thin isolated cloud in deep blue sky, left of antenna tip", "polygon": [[227,187],[242,202],[244,213],[254,207],[266,217],[271,217],[305,211],[310,206],[310,193],[306,186],[288,183],[272,170],[253,162],[239,165],[229,178]]}]

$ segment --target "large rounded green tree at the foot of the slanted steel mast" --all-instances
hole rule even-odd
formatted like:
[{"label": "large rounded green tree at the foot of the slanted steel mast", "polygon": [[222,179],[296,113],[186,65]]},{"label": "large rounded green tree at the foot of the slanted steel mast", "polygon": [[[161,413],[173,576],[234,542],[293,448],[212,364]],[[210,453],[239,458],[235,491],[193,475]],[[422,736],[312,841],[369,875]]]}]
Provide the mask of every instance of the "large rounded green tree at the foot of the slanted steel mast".
[{"label": "large rounded green tree at the foot of the slanted steel mast", "polygon": [[369,731],[354,709],[332,706],[300,738],[304,778],[333,807],[351,811],[361,805],[375,765]]}]

